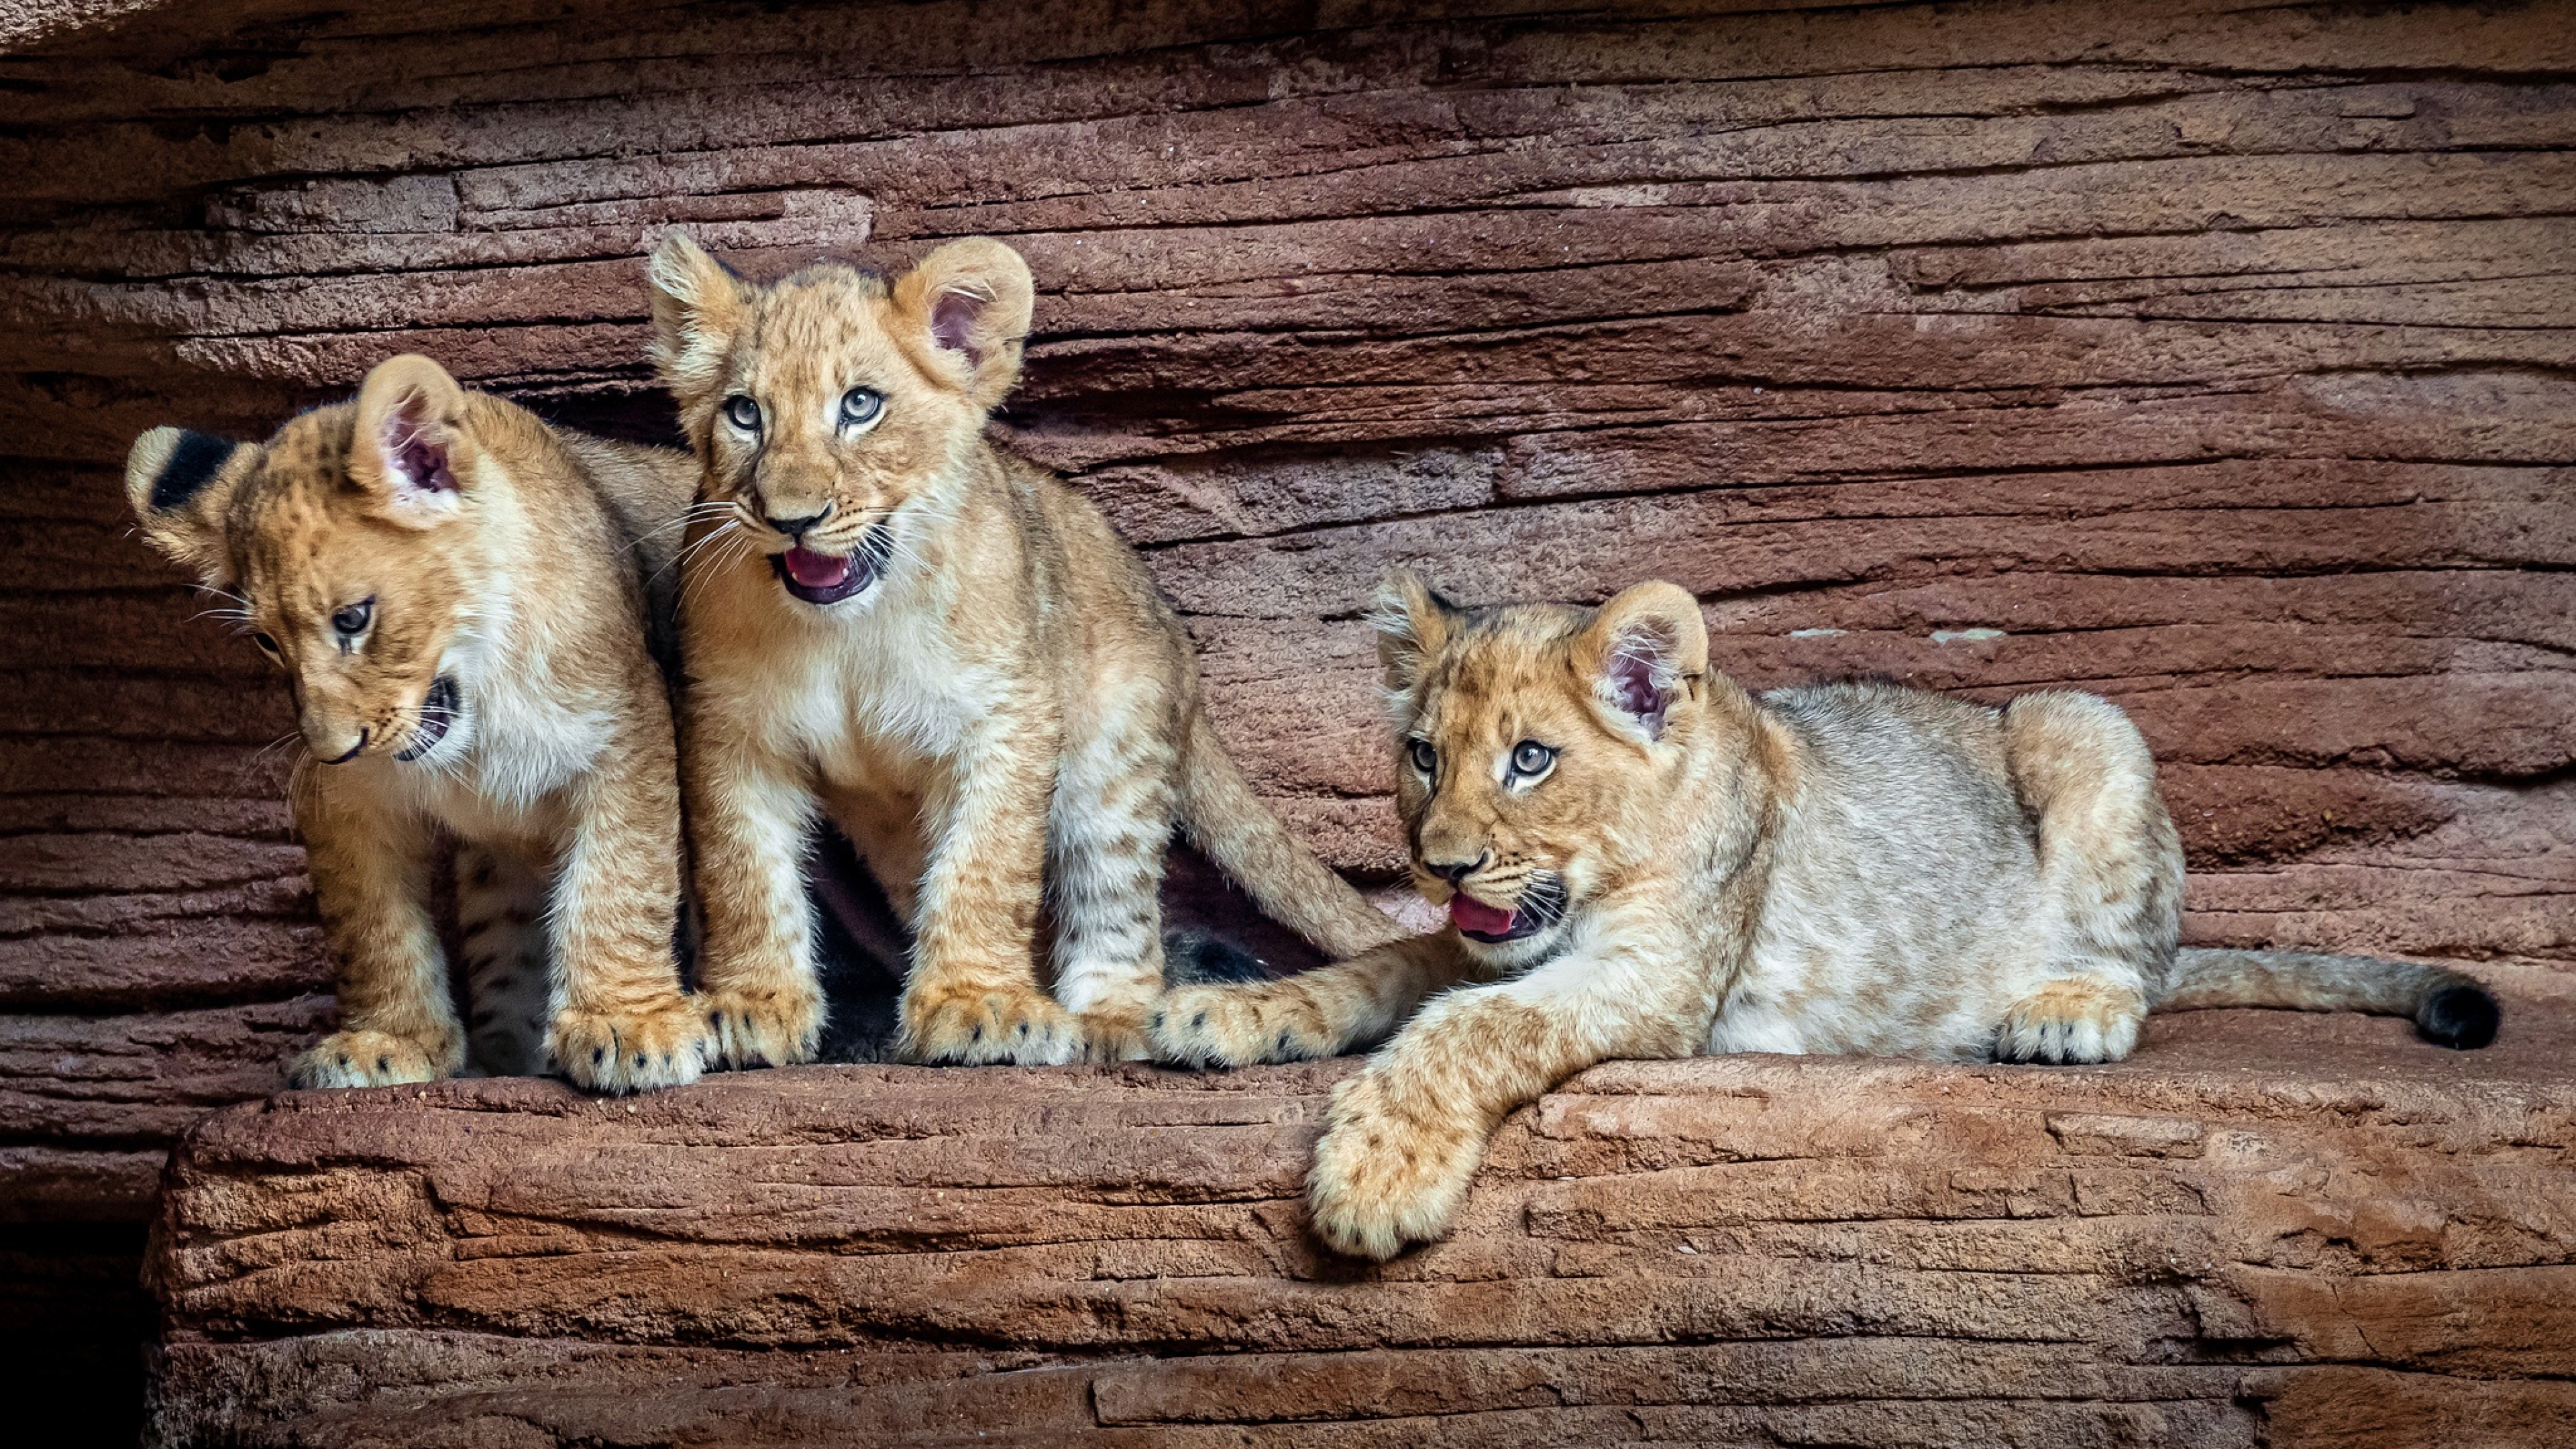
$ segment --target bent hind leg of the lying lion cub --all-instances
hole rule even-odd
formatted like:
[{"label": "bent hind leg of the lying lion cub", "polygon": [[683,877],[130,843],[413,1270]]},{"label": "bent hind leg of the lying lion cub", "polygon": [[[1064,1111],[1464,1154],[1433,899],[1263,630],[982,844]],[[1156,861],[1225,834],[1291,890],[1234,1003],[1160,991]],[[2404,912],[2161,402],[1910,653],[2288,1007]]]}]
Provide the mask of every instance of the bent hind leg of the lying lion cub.
[{"label": "bent hind leg of the lying lion cub", "polygon": [[1996,1029],[2004,1062],[2117,1062],[2182,933],[2182,843],[2156,761],[2107,699],[2027,694],[2004,709],[2012,786],[2038,825],[2056,959]]}]

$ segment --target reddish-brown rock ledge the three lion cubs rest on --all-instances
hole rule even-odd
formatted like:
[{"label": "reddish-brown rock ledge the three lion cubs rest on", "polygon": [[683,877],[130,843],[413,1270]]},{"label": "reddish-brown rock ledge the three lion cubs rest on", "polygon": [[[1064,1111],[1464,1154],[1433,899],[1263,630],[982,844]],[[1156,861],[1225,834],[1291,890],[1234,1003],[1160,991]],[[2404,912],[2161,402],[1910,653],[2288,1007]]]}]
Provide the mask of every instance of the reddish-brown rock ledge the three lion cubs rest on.
[{"label": "reddish-brown rock ledge the three lion cubs rest on", "polygon": [[170,1444],[2561,1444],[2576,993],[2478,1055],[2159,1018],[2117,1067],[1607,1065],[1453,1240],[1324,1258],[1347,1062],[799,1067],[196,1127]]}]

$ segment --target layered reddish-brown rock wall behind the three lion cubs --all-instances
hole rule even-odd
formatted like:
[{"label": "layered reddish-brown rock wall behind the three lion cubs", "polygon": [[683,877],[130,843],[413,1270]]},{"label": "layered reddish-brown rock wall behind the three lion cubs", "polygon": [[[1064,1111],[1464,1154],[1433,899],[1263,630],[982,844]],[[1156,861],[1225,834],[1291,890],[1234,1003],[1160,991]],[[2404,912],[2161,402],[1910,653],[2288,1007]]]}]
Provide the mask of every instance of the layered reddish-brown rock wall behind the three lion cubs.
[{"label": "layered reddish-brown rock wall behind the three lion cubs", "polygon": [[2120,699],[2195,938],[2576,954],[2566,3],[108,0],[0,46],[0,1279],[98,1289],[26,1292],[121,1302],[162,1147],[327,1016],[283,694],[113,462],[399,348],[654,436],[667,224],[1020,245],[1007,431],[1345,866],[1394,861],[1381,567],[1667,575],[1754,683]]}]

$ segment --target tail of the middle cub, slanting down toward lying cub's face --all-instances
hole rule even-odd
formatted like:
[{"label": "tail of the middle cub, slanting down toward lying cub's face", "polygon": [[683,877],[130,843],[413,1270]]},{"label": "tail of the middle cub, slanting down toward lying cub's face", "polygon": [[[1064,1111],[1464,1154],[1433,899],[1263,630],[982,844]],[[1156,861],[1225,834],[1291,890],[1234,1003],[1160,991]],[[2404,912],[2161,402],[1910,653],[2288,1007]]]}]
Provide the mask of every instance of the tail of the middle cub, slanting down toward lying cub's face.
[{"label": "tail of the middle cub, slanting down toward lying cub's face", "polygon": [[1190,843],[1244,887],[1262,915],[1314,941],[1332,959],[1383,946],[1404,928],[1280,825],[1234,768],[1216,730],[1193,714],[1180,748],[1180,820]]}]

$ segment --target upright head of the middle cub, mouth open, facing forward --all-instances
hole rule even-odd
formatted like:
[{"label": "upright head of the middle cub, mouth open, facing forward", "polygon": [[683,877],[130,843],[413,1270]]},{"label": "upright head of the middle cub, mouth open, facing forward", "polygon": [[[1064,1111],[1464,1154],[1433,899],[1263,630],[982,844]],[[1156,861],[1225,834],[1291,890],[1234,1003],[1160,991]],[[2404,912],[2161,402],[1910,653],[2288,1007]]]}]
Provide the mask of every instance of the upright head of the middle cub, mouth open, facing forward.
[{"label": "upright head of the middle cub, mouth open, facing forward", "polygon": [[989,237],[891,286],[848,266],[757,286],[672,232],[652,258],[652,356],[706,498],[734,505],[781,588],[840,603],[868,593],[907,521],[938,513],[1020,376],[1030,304],[1028,263]]}]

